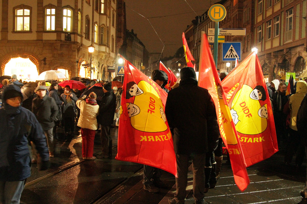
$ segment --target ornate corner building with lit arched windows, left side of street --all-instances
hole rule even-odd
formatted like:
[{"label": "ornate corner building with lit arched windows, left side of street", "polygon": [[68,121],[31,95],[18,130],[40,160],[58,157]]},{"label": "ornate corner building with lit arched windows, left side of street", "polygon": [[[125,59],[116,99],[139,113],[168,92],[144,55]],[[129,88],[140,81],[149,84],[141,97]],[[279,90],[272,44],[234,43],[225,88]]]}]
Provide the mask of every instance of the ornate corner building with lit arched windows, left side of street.
[{"label": "ornate corner building with lit arched windows, left side of street", "polygon": [[[64,70],[69,78],[111,79],[107,67],[114,66],[116,43],[120,42],[116,0],[0,2],[0,75],[17,74],[33,81],[29,74],[18,72],[18,67],[6,70],[11,59],[21,57],[35,65],[36,74],[52,69]],[[88,46],[95,47],[92,54]]]}]

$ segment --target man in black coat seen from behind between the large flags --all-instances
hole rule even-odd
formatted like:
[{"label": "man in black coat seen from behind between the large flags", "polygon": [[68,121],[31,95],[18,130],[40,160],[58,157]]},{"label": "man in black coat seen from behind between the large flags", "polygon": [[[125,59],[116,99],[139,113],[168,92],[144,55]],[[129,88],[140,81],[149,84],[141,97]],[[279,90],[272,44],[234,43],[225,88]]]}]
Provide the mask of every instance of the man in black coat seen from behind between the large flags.
[{"label": "man in black coat seen from behind between the large flags", "polygon": [[173,135],[177,160],[176,194],[169,203],[184,203],[188,161],[192,157],[195,203],[204,203],[205,154],[216,146],[219,128],[216,110],[207,89],[197,86],[191,67],[180,70],[179,87],[169,91],[165,115]]}]

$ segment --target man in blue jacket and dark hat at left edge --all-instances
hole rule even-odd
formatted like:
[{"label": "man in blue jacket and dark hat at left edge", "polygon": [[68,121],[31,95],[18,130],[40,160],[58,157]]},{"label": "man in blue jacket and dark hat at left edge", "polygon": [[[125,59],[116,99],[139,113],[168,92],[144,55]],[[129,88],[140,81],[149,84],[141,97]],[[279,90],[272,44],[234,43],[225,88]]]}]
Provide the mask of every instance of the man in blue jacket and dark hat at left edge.
[{"label": "man in blue jacket and dark hat at left edge", "polygon": [[35,115],[21,106],[20,88],[10,84],[3,91],[0,108],[0,203],[19,203],[25,182],[31,176],[32,141],[41,155],[39,170],[50,166],[46,138]]}]

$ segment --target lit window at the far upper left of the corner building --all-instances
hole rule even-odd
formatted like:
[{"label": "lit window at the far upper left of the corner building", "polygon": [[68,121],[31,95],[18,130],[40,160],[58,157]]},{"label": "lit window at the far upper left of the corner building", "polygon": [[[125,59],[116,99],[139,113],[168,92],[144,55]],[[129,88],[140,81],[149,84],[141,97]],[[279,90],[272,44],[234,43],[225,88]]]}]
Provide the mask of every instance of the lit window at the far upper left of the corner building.
[{"label": "lit window at the far upper left of the corner building", "polygon": [[14,31],[31,31],[32,7],[20,5],[14,7]]}]

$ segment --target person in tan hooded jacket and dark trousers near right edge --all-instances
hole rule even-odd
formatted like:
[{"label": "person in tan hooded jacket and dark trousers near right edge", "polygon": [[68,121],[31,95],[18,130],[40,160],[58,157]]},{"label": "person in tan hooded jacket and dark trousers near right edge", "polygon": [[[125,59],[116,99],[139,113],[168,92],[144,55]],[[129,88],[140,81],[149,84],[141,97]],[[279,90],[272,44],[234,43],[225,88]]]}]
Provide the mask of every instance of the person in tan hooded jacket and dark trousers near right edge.
[{"label": "person in tan hooded jacket and dark trousers near right edge", "polygon": [[[296,127],[296,118],[298,109],[301,106],[301,102],[303,101],[305,95],[307,93],[307,83],[303,80],[299,80],[296,85],[296,93],[290,96],[289,99],[289,108],[290,108],[290,132],[289,132],[289,141],[288,148],[285,154],[285,162],[286,164],[290,164],[293,158],[294,153],[297,149],[301,151],[297,151],[295,164],[297,166],[301,165],[301,162],[304,158],[304,143],[302,143],[302,135],[297,131]],[[301,148],[298,148],[300,147]]]}]

